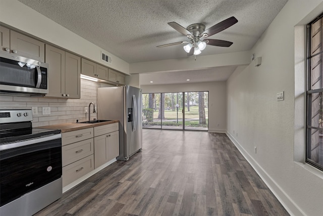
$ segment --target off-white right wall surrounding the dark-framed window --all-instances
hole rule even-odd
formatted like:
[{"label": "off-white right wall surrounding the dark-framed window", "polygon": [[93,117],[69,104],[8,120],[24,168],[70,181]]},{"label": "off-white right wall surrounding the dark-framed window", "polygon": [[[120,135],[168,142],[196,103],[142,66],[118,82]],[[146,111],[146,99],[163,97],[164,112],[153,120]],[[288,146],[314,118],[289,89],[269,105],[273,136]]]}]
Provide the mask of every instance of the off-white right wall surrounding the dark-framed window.
[{"label": "off-white right wall surrounding the dark-framed window", "polygon": [[[294,37],[294,26],[322,11],[322,1],[289,1],[251,50],[261,65],[237,68],[227,83],[228,136],[292,215],[323,214],[323,172],[300,162],[305,28],[297,26],[302,35]],[[285,100],[276,101],[282,91]]]}]

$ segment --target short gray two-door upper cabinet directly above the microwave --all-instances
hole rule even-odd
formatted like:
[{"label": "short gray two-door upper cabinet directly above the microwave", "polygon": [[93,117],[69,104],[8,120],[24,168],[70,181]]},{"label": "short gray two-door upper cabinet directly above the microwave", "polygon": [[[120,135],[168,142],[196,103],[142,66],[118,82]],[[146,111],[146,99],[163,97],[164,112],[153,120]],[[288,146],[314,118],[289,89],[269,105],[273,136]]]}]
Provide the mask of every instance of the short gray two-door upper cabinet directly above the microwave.
[{"label": "short gray two-door upper cabinet directly above the microwave", "polygon": [[1,50],[18,56],[45,61],[45,43],[0,26]]}]

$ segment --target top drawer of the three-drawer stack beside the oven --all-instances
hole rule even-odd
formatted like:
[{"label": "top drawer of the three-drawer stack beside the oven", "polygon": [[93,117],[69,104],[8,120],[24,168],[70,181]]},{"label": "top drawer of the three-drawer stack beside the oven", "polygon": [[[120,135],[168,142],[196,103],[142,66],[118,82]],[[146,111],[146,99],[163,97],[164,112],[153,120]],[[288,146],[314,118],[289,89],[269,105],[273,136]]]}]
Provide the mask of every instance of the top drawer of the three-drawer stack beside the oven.
[{"label": "top drawer of the three-drawer stack beside the oven", "polygon": [[93,138],[93,127],[62,134],[62,146]]}]

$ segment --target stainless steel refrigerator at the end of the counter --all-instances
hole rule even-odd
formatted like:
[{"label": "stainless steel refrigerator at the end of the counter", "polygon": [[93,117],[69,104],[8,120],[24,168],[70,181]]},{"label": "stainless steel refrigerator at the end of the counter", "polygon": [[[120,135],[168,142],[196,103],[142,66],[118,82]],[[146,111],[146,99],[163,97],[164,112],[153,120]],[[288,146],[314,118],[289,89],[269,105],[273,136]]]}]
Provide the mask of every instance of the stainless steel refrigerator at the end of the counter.
[{"label": "stainless steel refrigerator at the end of the counter", "polygon": [[104,87],[97,89],[97,116],[101,120],[119,120],[119,157],[129,157],[142,150],[141,89]]}]

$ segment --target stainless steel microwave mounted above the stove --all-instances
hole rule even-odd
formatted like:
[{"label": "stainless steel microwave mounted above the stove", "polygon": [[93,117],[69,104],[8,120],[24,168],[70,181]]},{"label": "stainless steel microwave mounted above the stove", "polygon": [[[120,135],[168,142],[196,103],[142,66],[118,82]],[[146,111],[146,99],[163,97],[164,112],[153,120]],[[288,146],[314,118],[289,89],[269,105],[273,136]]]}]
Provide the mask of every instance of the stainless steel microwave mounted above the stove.
[{"label": "stainless steel microwave mounted above the stove", "polygon": [[48,64],[0,51],[0,93],[48,94]]}]

